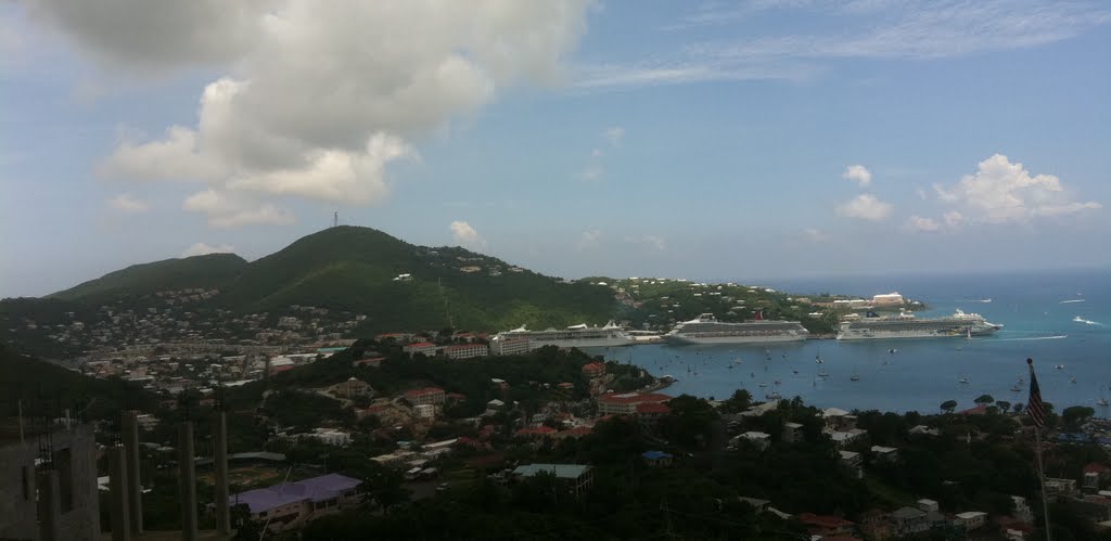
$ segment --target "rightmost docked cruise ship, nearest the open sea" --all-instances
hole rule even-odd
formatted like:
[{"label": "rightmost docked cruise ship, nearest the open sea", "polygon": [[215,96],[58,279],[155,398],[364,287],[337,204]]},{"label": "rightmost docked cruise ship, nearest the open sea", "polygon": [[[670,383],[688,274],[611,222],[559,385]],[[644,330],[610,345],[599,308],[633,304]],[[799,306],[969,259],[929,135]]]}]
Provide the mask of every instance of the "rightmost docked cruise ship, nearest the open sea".
[{"label": "rightmost docked cruise ship, nearest the open sea", "polygon": [[892,338],[983,337],[994,334],[1003,325],[983,319],[979,313],[957,310],[944,318],[915,318],[904,312],[885,318],[863,318],[843,321],[838,340],[884,340]]}]

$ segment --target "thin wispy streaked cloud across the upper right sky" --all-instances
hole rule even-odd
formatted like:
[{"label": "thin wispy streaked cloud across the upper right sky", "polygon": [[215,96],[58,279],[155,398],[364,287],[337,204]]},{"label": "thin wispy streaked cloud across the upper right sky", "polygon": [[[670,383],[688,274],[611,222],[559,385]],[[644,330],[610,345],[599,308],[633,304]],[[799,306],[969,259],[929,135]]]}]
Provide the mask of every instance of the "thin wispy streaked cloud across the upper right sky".
[{"label": "thin wispy streaked cloud across the upper right sky", "polygon": [[[1042,0],[755,0],[708,2],[670,30],[710,33],[702,27],[734,24],[768,10],[784,20],[834,16],[830,32],[747,31],[740,38],[703,41],[650,53],[629,63],[581,70],[578,86],[605,89],[703,81],[804,79],[852,59],[929,60],[1030,48],[1081,36],[1111,22],[1105,2]],[[790,26],[762,26],[781,29]],[[668,41],[670,43],[670,41]],[[644,47],[651,50],[650,47]]]}]

